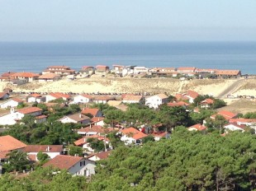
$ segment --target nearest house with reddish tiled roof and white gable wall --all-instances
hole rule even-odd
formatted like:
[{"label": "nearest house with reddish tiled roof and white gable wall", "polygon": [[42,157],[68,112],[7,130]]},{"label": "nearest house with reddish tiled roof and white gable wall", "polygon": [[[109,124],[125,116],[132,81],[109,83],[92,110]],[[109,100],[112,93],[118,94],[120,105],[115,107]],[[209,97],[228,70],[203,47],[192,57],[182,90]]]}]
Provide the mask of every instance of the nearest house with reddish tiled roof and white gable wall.
[{"label": "nearest house with reddish tiled roof and white gable wall", "polygon": [[68,170],[70,175],[91,176],[95,174],[95,162],[78,156],[58,155],[46,162],[43,167],[52,166],[59,170]]}]

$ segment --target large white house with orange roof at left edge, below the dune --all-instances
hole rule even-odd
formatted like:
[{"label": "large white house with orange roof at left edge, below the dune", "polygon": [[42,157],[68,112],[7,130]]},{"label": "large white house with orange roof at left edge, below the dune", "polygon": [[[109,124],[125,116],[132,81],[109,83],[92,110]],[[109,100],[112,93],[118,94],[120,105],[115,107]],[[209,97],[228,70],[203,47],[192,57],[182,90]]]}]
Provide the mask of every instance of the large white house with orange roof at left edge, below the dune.
[{"label": "large white house with orange roof at left edge, below the dune", "polygon": [[43,123],[46,121],[46,116],[42,115],[42,109],[38,107],[28,107],[23,109],[11,108],[10,114],[4,114],[0,117],[0,125],[12,125],[20,121],[24,116],[35,116],[36,123]]}]

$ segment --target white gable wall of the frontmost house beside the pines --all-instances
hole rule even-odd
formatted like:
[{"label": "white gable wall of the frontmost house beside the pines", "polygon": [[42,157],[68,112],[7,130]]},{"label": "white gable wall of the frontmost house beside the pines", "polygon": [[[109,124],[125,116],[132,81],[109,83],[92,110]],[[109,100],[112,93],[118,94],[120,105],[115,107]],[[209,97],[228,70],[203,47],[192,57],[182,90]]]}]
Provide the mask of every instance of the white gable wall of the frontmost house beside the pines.
[{"label": "white gable wall of the frontmost house beside the pines", "polygon": [[[80,164],[80,162],[83,163],[84,161],[84,165]],[[90,176],[90,175],[94,175],[95,174],[95,162],[94,161],[89,161],[86,159],[83,159],[81,161],[79,161],[77,164],[73,165],[70,169],[69,169],[69,173],[71,175],[84,175],[84,176]]]}]

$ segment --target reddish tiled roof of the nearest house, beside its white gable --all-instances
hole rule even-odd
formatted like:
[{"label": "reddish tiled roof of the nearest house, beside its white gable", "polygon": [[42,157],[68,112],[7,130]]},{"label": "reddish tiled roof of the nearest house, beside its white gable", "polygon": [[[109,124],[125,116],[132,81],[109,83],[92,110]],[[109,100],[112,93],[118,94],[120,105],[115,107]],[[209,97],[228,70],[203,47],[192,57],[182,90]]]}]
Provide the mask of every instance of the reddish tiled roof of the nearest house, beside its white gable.
[{"label": "reddish tiled roof of the nearest house, beside its white gable", "polygon": [[59,155],[46,162],[43,167],[52,165],[60,170],[69,170],[73,165],[77,164],[81,160],[83,160],[83,157]]}]

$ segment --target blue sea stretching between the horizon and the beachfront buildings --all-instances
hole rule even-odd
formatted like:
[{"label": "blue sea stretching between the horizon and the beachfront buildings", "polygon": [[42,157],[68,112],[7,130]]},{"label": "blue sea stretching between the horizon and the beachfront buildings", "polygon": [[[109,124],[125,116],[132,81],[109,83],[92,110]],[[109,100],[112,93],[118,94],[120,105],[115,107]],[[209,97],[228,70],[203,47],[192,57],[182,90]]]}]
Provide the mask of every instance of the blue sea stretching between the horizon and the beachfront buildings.
[{"label": "blue sea stretching between the horizon and the beachfront buildings", "polygon": [[239,69],[256,74],[256,42],[0,43],[0,73],[41,72],[51,65],[78,71],[97,64]]}]

